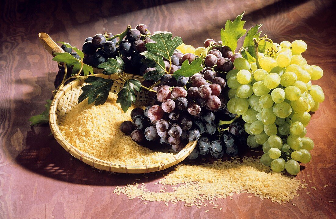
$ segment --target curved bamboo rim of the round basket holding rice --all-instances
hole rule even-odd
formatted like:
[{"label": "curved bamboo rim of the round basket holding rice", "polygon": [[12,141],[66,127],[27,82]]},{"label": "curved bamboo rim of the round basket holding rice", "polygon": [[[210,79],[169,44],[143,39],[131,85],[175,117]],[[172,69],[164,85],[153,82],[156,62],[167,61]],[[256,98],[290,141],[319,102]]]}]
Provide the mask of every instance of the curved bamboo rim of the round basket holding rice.
[{"label": "curved bamboo rim of the round basket holding rice", "polygon": [[[105,75],[105,74],[94,74],[92,76],[100,76],[103,78],[108,79],[117,79],[118,77],[114,74],[112,75]],[[139,78],[143,79],[143,77],[134,74],[127,74],[129,78]],[[171,167],[175,164],[180,163],[184,160],[196,147],[197,141],[189,142],[180,152],[173,156],[173,159],[169,160],[168,163],[159,162],[157,164],[148,164],[148,165],[121,165],[113,162],[104,161],[98,158],[95,158],[91,155],[88,155],[85,152],[77,149],[69,142],[65,140],[62,136],[59,127],[56,123],[56,110],[59,104],[59,99],[61,99],[67,92],[72,90],[77,86],[82,86],[85,79],[76,79],[71,81],[69,84],[64,86],[63,88],[59,89],[55,94],[50,110],[49,110],[49,126],[51,129],[51,133],[56,139],[56,141],[64,148],[68,153],[70,153],[75,158],[79,159],[80,161],[93,166],[94,168],[112,172],[119,172],[119,173],[148,173],[148,172],[155,172],[166,169]]]}]

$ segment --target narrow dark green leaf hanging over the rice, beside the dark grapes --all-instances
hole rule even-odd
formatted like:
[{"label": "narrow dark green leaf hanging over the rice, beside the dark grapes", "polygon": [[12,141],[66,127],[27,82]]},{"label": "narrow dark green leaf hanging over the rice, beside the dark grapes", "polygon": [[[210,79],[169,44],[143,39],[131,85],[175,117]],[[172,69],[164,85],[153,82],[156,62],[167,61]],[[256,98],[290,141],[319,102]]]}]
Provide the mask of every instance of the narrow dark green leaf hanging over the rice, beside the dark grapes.
[{"label": "narrow dark green leaf hanging over the rice, beside the dark grapes", "polygon": [[128,110],[132,106],[132,103],[135,102],[135,92],[140,91],[141,83],[136,79],[128,79],[126,80],[123,89],[119,91],[117,103],[120,103],[121,108],[124,112]]}]

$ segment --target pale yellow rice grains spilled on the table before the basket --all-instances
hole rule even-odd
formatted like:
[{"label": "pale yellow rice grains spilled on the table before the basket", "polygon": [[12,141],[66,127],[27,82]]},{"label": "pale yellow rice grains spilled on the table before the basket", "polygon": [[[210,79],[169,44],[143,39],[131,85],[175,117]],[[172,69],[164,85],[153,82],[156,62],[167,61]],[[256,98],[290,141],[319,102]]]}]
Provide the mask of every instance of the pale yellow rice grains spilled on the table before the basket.
[{"label": "pale yellow rice grains spilled on the table before the basket", "polygon": [[[199,203],[199,200],[226,198],[235,193],[256,194],[260,199],[272,202],[292,200],[300,184],[294,177],[272,172],[255,158],[215,161],[212,164],[180,164],[159,181],[159,184],[174,185],[173,191],[155,192],[138,185],[118,187],[114,193],[123,193],[144,201],[184,201]],[[231,197],[230,197],[231,198]],[[200,204],[199,204],[200,205]],[[205,205],[204,205],[205,206]]]}]

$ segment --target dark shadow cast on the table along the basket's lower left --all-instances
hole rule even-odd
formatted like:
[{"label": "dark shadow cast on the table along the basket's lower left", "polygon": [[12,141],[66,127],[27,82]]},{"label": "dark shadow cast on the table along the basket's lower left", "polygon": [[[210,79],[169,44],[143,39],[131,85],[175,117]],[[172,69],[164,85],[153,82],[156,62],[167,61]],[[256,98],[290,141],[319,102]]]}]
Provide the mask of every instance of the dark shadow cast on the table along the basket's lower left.
[{"label": "dark shadow cast on the table along the basket's lower left", "polygon": [[126,185],[134,179],[139,183],[161,178],[158,174],[115,174],[94,169],[65,151],[50,134],[48,126],[32,127],[26,138],[26,148],[18,154],[16,162],[35,173],[56,180],[87,185]]}]

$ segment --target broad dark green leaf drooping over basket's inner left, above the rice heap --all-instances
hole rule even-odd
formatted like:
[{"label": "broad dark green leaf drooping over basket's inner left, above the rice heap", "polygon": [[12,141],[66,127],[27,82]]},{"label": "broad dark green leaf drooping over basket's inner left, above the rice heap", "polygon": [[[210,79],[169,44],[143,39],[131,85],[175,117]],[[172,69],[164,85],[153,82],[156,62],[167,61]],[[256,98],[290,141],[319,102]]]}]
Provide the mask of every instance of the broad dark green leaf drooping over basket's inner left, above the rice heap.
[{"label": "broad dark green leaf drooping over basket's inner left, above the rice heap", "polygon": [[88,104],[102,105],[109,97],[114,80],[102,77],[89,76],[84,80],[90,85],[82,87],[83,93],[78,97],[78,103],[88,98]]}]

